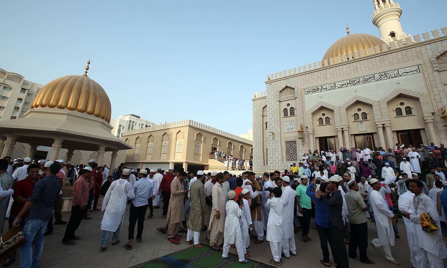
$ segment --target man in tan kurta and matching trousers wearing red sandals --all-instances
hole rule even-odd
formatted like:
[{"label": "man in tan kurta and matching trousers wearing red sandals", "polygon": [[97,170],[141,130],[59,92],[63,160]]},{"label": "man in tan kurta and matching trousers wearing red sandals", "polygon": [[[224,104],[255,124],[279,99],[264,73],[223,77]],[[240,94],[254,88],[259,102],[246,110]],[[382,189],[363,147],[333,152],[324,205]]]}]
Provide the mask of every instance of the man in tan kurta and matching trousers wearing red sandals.
[{"label": "man in tan kurta and matching trousers wearing red sandals", "polygon": [[186,178],[186,172],[179,172],[171,183],[171,199],[169,199],[168,207],[168,239],[177,234],[180,222],[185,220],[185,207],[183,205],[183,197],[188,190],[183,189],[181,183]]}]

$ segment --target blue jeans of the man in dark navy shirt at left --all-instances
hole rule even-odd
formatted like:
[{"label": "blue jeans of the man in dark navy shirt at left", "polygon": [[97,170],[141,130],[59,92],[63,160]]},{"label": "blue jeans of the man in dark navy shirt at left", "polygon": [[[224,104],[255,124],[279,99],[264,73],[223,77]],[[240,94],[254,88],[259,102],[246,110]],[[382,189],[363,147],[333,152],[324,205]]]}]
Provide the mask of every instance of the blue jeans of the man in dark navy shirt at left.
[{"label": "blue jeans of the man in dark navy shirt at left", "polygon": [[[20,251],[20,268],[38,267],[43,250],[43,233],[45,233],[48,221],[32,219],[25,223],[23,235],[26,243]],[[34,240],[34,253],[32,243]]]}]

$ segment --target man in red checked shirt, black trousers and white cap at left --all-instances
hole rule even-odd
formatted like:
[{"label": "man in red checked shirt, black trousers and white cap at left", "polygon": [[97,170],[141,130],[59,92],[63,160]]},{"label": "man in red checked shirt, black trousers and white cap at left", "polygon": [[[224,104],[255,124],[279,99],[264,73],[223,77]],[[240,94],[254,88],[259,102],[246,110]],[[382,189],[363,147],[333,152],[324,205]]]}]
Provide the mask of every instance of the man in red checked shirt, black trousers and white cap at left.
[{"label": "man in red checked shirt, black trousers and white cap at left", "polygon": [[80,171],[79,179],[73,184],[73,202],[72,215],[65,229],[65,235],[62,239],[64,245],[75,245],[73,240],[79,240],[80,237],[75,235],[85,210],[85,205],[89,200],[89,189],[93,185],[92,167],[86,166]]}]

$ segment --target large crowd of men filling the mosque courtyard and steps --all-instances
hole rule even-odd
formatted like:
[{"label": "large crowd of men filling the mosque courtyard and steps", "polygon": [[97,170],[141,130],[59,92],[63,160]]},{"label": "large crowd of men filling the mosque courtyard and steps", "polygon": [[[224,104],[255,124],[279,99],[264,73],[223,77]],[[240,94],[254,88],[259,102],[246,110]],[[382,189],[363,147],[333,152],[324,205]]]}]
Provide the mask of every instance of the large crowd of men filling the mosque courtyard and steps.
[{"label": "large crowd of men filling the mosque courtyard and steps", "polygon": [[[383,252],[388,262],[399,265],[392,256],[392,246],[400,239],[396,223],[397,214],[401,214],[413,267],[440,268],[447,257],[443,243],[443,236],[447,237],[447,174],[445,161],[437,159],[445,151],[443,144],[418,149],[397,144],[386,151],[381,147],[375,151],[344,147],[338,153],[309,152],[283,174],[275,171],[262,176],[252,171],[206,174],[173,167],[166,173],[160,167],[133,170],[125,163],[108,176],[107,167],[98,166],[93,159],[85,166],[72,167],[63,159],[34,164],[29,157],[16,161],[5,158],[0,161],[0,209],[6,217],[8,203],[12,203],[9,227],[20,226],[27,239],[21,247],[21,268],[38,266],[43,236],[52,232],[53,209],[54,224],[67,223],[62,243],[70,246],[81,239],[76,230],[82,220],[91,219],[89,213],[93,211],[104,211],[101,251],[105,251],[111,233],[112,245],[120,243],[120,228],[130,203],[128,241],[123,247],[131,250],[135,226],[138,224],[136,240],[140,243],[147,209],[147,218],[154,217],[153,211],[160,208],[161,201],[166,225],[156,230],[167,234],[170,243],[180,244],[180,233],[186,233],[186,244],[205,247],[200,243],[203,231],[209,246],[223,251],[223,260],[229,258],[229,249],[234,247],[239,262],[246,263],[252,254],[260,254],[247,249],[251,239],[257,244],[266,240],[272,253],[270,264],[275,266],[313,241],[311,227],[317,230],[320,263],[326,267],[331,266],[329,247],[337,268],[349,267],[357,256],[362,264],[374,264],[367,256],[368,245],[379,254]],[[10,167],[17,161],[23,166]],[[419,180],[422,169],[430,171],[422,178],[425,181]],[[59,208],[65,179],[73,185],[68,222],[62,221]],[[98,208],[100,195],[104,198]],[[11,196],[13,202],[9,202]],[[373,222],[370,224],[377,231],[371,240],[368,222]],[[295,234],[299,233],[303,244],[297,247]],[[15,255],[5,264],[14,260]]]}]

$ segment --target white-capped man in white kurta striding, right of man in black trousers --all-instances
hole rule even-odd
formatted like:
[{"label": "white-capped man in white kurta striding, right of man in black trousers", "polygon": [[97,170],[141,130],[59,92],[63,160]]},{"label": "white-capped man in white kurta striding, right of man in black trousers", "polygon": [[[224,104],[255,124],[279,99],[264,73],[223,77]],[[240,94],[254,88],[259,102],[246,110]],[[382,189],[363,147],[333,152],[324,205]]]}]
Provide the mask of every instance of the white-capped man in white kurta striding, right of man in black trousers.
[{"label": "white-capped man in white kurta striding, right of man in black trousers", "polygon": [[391,219],[396,216],[389,210],[388,205],[379,192],[382,187],[380,182],[374,178],[370,180],[370,184],[373,190],[371,191],[369,199],[371,201],[372,211],[374,212],[377,235],[379,236],[379,238],[372,239],[371,246],[377,253],[380,253],[379,248],[382,247],[385,252],[385,260],[399,265],[400,263],[391,255],[391,246],[394,246],[395,242]]}]

